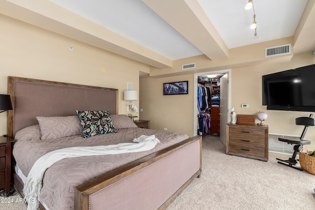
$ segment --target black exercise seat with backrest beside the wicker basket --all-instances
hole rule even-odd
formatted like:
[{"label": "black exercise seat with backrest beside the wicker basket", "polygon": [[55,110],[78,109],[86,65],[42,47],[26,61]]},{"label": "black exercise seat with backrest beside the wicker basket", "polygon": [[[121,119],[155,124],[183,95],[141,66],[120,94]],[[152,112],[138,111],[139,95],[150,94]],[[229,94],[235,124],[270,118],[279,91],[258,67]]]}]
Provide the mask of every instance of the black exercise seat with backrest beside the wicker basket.
[{"label": "black exercise seat with backrest beside the wicker basket", "polygon": [[[281,138],[279,138],[279,141],[286,142],[286,143],[291,144],[291,145],[294,144],[294,147],[293,147],[294,152],[293,152],[292,157],[290,157],[288,160],[282,160],[279,158],[276,158],[276,159],[280,160],[280,161],[278,161],[278,163],[280,163],[280,164],[283,164],[285,166],[303,171],[303,169],[297,168],[293,165],[295,165],[297,163],[295,157],[296,157],[297,152],[299,151],[299,148],[303,145],[310,145],[311,144],[311,141],[305,140],[304,137],[305,137],[305,134],[306,134],[308,127],[315,125],[315,120],[313,119],[313,114],[311,114],[310,117],[296,118],[295,124],[296,125],[304,125],[304,130],[303,130],[300,138],[294,138],[294,137],[281,137]],[[287,164],[285,164],[285,163],[287,163]]]}]

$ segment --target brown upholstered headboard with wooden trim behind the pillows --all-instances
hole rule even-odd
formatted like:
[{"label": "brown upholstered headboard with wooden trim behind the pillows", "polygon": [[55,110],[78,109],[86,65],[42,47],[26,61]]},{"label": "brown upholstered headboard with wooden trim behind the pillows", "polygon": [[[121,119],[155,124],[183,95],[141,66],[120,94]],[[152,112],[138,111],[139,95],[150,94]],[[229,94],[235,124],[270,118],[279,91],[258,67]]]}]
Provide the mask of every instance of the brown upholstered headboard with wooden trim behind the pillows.
[{"label": "brown upholstered headboard with wooden trim behind the pillows", "polygon": [[13,110],[8,134],[38,124],[36,117],[76,115],[75,110],[104,110],[118,114],[118,89],[101,88],[21,77],[8,77]]}]

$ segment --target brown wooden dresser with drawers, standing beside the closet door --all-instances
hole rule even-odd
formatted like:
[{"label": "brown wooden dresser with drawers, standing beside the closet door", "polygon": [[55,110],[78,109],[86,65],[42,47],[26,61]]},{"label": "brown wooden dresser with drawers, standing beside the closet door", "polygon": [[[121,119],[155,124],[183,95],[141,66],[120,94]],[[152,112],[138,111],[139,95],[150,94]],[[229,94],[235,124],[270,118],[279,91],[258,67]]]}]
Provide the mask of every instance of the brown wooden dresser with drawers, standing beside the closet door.
[{"label": "brown wooden dresser with drawers, standing beside the closet door", "polygon": [[226,124],[226,153],[268,161],[268,125]]}]

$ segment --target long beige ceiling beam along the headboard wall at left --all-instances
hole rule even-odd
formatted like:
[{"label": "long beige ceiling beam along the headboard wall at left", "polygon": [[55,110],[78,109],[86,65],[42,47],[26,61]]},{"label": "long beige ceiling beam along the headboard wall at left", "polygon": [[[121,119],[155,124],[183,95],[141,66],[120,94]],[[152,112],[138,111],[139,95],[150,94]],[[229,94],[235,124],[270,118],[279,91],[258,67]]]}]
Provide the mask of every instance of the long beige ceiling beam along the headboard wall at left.
[{"label": "long beige ceiling beam along the headboard wall at left", "polygon": [[163,69],[170,60],[49,0],[1,0],[0,14]]}]

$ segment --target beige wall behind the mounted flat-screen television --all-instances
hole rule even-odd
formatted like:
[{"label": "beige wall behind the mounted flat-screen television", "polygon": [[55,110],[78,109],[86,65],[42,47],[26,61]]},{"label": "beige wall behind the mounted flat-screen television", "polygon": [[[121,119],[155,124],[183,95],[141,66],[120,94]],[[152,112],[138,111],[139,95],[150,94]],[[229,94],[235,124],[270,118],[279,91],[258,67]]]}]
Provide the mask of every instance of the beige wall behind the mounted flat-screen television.
[{"label": "beige wall behind the mounted flat-screen television", "polygon": [[[268,119],[265,124],[269,125],[270,133],[300,135],[303,127],[295,125],[295,118],[309,116],[310,112],[292,112],[266,110],[262,106],[261,76],[291,68],[310,65],[315,63],[315,58],[310,53],[295,55],[289,62],[261,64],[246,68],[232,69],[232,106],[237,114],[256,114],[259,111],[266,112]],[[249,104],[248,109],[241,108],[242,103]],[[315,113],[313,113],[315,114]],[[256,120],[259,122],[259,120]],[[315,127],[310,128],[306,139],[314,142],[308,148],[315,149]]]}]

